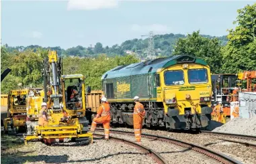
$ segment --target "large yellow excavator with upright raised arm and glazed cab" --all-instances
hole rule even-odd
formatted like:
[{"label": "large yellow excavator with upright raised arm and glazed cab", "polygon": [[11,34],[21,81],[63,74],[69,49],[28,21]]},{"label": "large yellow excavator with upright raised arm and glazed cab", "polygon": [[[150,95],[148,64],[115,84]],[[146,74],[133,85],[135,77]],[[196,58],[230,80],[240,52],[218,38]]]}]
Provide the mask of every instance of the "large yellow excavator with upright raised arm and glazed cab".
[{"label": "large yellow excavator with upright raised arm and glazed cab", "polygon": [[[24,135],[27,141],[42,139],[50,144],[56,139],[93,142],[89,121],[85,117],[85,84],[82,74],[62,75],[62,60],[57,60],[56,51],[50,51],[43,62],[44,102],[48,104],[48,125],[39,126],[37,120],[30,120],[30,131]],[[27,124],[28,126],[28,124]]]}]

